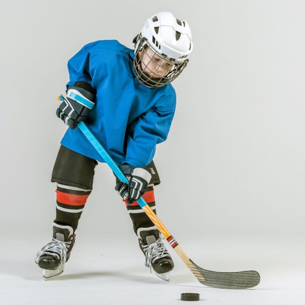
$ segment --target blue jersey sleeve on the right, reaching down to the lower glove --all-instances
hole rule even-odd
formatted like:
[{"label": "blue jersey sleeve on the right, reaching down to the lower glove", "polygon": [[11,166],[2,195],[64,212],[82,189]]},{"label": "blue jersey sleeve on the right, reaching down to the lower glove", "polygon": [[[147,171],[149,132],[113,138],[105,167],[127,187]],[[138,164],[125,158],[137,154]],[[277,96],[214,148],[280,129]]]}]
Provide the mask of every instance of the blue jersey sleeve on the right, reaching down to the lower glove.
[{"label": "blue jersey sleeve on the right, reaching down to the lower glove", "polygon": [[170,131],[176,107],[176,94],[162,96],[156,105],[137,117],[128,129],[126,163],[146,166]]}]

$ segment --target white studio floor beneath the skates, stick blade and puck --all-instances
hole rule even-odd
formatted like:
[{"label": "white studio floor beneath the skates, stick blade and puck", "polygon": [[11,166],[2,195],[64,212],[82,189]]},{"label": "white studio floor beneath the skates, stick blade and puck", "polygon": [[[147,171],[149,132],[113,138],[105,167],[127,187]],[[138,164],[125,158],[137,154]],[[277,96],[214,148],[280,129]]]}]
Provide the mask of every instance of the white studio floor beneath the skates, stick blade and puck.
[{"label": "white studio floor beneath the skates, stick blade and puck", "polygon": [[144,267],[137,238],[130,232],[117,234],[115,240],[80,232],[63,275],[45,282],[34,256],[49,236],[44,232],[24,238],[7,232],[2,237],[0,303],[184,304],[187,302],[180,300],[180,294],[196,292],[200,293],[197,303],[203,304],[305,304],[303,236],[174,237],[200,267],[214,271],[257,270],[261,283],[246,290],[203,286],[170,249],[175,268],[172,282],[167,284]]}]

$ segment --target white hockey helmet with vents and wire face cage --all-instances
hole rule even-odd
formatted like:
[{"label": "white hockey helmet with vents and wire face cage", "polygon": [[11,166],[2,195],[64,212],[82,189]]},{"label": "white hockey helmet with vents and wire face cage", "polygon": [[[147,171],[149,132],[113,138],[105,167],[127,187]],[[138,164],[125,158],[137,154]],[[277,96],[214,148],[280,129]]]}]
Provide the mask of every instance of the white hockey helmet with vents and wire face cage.
[{"label": "white hockey helmet with vents and wire face cage", "polygon": [[[135,43],[133,61],[135,74],[140,83],[150,88],[164,86],[178,77],[187,65],[188,57],[193,50],[192,32],[188,23],[174,17],[170,12],[160,12],[147,19],[140,34],[134,38],[133,42]],[[151,70],[149,68],[151,64],[147,63],[147,60],[145,66],[143,63],[141,64],[148,48],[160,56],[163,63],[170,63],[167,73],[161,78],[152,76],[158,69],[157,66],[156,70]],[[144,52],[140,56],[141,50]],[[149,58],[150,62],[157,64],[151,56]]]}]

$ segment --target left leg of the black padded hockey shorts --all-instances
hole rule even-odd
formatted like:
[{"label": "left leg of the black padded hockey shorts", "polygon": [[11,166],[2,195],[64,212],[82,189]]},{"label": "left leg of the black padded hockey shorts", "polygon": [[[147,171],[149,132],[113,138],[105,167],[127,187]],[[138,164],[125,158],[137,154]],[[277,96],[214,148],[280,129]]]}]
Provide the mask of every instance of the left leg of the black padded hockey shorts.
[{"label": "left leg of the black padded hockey shorts", "polygon": [[92,190],[94,168],[98,162],[61,145],[51,182]]}]

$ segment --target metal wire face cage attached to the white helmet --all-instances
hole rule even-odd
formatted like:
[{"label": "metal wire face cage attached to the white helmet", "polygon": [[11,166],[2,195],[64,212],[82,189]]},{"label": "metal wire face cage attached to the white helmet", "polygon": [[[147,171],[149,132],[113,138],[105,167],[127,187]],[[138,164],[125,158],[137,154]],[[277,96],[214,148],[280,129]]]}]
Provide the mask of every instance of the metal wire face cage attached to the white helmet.
[{"label": "metal wire face cage attached to the white helmet", "polygon": [[156,88],[171,83],[188,63],[188,59],[178,62],[156,52],[145,37],[140,38],[139,43],[136,41],[137,44],[133,67],[138,81],[146,87]]}]

